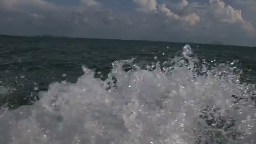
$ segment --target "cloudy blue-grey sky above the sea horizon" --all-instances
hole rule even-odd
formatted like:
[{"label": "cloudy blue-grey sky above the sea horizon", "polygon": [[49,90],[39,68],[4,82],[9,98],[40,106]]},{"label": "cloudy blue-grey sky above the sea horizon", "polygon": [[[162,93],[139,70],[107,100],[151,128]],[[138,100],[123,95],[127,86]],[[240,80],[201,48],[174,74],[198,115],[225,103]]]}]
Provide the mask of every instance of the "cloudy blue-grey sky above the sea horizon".
[{"label": "cloudy blue-grey sky above the sea horizon", "polygon": [[0,34],[256,46],[256,0],[0,0]]}]

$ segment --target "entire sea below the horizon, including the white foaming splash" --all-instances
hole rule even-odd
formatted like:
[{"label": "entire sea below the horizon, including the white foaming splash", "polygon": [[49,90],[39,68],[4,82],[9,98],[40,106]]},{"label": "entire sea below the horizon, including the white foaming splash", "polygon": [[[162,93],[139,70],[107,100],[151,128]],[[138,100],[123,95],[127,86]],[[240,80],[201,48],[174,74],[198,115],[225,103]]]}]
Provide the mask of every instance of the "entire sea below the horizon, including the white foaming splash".
[{"label": "entire sea below the horizon, including the white foaming splash", "polygon": [[255,144],[256,47],[0,36],[0,144]]}]

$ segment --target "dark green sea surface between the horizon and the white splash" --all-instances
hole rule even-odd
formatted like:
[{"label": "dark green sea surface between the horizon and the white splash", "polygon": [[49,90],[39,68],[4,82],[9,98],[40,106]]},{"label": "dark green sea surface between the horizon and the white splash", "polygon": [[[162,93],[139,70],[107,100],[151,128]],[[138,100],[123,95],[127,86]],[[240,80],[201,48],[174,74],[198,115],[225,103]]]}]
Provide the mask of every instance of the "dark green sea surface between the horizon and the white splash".
[{"label": "dark green sea surface between the horizon and the white splash", "polygon": [[[83,65],[106,75],[113,61],[137,58],[138,63],[150,64],[157,56],[163,62],[173,58],[185,44],[64,37],[0,37],[0,81],[2,86],[15,88],[19,97],[26,99],[35,85],[39,90],[47,90],[54,81],[76,82],[83,75]],[[190,46],[197,56],[207,61],[239,60],[238,66],[249,74],[245,76],[247,81],[256,82],[256,48],[205,44]],[[27,103],[23,99],[20,102]]]}]

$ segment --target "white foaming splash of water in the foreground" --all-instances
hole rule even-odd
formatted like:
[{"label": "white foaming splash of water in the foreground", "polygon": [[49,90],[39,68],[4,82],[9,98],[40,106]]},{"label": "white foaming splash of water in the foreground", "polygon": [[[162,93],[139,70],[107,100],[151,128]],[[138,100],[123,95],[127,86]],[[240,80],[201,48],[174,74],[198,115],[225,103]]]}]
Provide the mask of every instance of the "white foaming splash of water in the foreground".
[{"label": "white foaming splash of water in the foreground", "polygon": [[233,64],[192,54],[186,45],[148,69],[115,61],[106,80],[83,67],[77,83],[52,83],[32,106],[1,111],[0,143],[254,144],[254,85]]}]

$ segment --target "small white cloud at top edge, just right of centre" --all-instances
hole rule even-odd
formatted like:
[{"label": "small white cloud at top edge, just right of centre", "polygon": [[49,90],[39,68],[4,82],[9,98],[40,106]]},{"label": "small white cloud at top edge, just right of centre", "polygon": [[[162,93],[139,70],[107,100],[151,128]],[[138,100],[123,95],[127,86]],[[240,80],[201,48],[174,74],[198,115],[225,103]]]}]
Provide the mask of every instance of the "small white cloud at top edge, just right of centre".
[{"label": "small white cloud at top edge, just right of centre", "polygon": [[156,0],[133,0],[137,5],[137,10],[145,13],[156,11],[157,1]]}]

